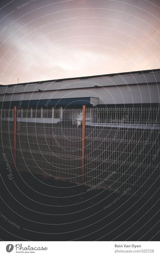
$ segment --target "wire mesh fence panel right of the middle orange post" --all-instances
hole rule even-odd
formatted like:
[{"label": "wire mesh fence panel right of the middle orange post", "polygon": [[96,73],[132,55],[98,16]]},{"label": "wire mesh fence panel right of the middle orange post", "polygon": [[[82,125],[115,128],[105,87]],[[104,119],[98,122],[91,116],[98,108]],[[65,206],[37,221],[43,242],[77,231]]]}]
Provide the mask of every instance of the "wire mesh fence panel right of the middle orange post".
[{"label": "wire mesh fence panel right of the middle orange post", "polygon": [[159,109],[86,109],[85,183],[150,195],[159,183]]}]

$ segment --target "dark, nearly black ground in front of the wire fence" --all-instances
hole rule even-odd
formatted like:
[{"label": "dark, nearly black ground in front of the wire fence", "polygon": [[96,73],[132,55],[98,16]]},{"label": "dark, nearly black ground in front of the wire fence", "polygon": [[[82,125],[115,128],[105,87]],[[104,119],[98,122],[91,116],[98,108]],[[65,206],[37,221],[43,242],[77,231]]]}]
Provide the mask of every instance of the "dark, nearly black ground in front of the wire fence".
[{"label": "dark, nearly black ground in front of the wire fence", "polygon": [[87,191],[88,186],[26,172],[13,171],[12,180],[5,168],[0,174],[4,241],[159,240],[158,191],[150,199],[120,197],[104,189]]}]

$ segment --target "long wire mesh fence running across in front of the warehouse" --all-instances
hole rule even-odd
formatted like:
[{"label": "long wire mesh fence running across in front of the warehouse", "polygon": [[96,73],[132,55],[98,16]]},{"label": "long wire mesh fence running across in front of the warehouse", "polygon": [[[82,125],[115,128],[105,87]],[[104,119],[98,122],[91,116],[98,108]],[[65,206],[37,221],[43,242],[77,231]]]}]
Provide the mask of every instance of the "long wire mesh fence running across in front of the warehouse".
[{"label": "long wire mesh fence running across in front of the warehouse", "polygon": [[14,168],[15,150],[19,171],[116,192],[129,188],[128,194],[153,194],[159,186],[159,109],[84,111],[18,109],[14,149],[14,110],[2,109],[1,163],[5,153]]}]

